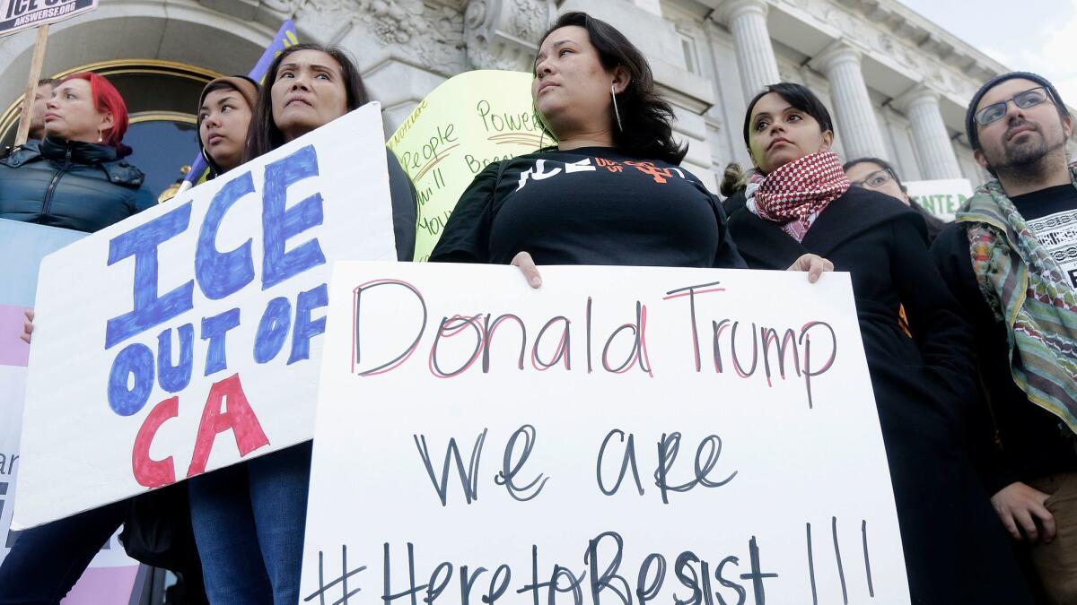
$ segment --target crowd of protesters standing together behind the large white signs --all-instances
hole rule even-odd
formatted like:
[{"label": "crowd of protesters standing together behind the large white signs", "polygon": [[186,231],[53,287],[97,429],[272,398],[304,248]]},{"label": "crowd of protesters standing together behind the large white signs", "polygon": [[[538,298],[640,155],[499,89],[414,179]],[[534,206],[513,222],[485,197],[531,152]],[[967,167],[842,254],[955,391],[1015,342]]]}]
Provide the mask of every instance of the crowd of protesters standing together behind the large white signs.
[{"label": "crowd of protesters standing together behind the large white signs", "polygon": [[[1037,239],[1077,210],[1074,118],[1051,82],[1005,73],[969,100],[992,180],[954,222],[886,160],[839,157],[826,107],[788,82],[749,102],[752,165],[727,167],[719,198],[681,167],[646,58],[585,13],[542,37],[531,98],[547,144],[481,170],[430,262],[513,265],[540,291],[551,265],[850,272],[912,603],[1077,604],[1077,286]],[[213,80],[197,107],[207,179],[369,101],[353,58],[318,44],[281,52],[264,82]],[[127,109],[107,78],[42,80],[32,102],[29,140],[0,157],[0,219],[95,233],[157,205],[125,159]],[[408,263],[417,193],[387,158]],[[32,349],[48,318],[26,314]],[[23,531],[0,605],[59,603],[121,526],[131,557],[182,578],[183,602],[300,602],[310,473],[307,441]]]}]

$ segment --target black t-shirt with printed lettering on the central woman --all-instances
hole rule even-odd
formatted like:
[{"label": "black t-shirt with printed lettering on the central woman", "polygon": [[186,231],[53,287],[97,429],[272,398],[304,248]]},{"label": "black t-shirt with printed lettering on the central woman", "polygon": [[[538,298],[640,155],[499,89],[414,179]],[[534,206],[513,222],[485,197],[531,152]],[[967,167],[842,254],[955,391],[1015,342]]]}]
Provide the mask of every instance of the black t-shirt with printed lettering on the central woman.
[{"label": "black t-shirt with printed lettering on the central woman", "polygon": [[744,268],[717,198],[687,170],[609,147],[492,164],[461,196],[432,262]]}]

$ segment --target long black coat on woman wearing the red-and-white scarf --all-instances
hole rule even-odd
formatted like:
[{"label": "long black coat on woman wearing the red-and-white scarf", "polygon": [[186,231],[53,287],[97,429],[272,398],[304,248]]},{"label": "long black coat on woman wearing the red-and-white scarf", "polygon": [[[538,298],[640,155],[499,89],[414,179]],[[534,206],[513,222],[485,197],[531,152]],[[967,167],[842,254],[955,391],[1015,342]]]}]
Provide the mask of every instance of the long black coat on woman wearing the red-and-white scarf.
[{"label": "long black coat on woman wearing the red-and-white scarf", "polygon": [[[1031,603],[960,437],[977,397],[973,334],[932,262],[924,220],[853,187],[802,243],[746,209],[729,227],[752,268],[785,269],[814,253],[852,273],[912,602]],[[898,324],[903,305],[913,338]]]}]

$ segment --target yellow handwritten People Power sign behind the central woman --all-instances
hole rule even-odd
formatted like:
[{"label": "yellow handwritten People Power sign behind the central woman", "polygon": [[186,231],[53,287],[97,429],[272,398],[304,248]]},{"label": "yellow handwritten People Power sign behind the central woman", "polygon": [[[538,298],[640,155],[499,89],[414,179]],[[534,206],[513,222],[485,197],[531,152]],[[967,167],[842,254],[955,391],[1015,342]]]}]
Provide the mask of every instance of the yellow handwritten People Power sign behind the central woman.
[{"label": "yellow handwritten People Power sign behind the central woman", "polygon": [[430,257],[460,194],[484,168],[556,142],[534,113],[531,80],[496,70],[450,78],[390,137],[419,197],[416,261]]}]

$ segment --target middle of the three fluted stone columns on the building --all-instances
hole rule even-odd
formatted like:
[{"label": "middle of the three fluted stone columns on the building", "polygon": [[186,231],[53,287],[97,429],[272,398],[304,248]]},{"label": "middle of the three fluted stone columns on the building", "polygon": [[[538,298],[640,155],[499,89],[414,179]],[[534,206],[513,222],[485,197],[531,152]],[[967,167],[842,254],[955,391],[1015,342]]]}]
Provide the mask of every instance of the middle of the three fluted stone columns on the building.
[{"label": "middle of the three fluted stone columns on the building", "polygon": [[886,146],[861,72],[861,52],[839,42],[813,58],[812,64],[817,65],[830,82],[830,100],[837,114],[836,127],[845,152],[844,159],[865,156],[885,159]]}]

